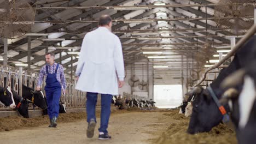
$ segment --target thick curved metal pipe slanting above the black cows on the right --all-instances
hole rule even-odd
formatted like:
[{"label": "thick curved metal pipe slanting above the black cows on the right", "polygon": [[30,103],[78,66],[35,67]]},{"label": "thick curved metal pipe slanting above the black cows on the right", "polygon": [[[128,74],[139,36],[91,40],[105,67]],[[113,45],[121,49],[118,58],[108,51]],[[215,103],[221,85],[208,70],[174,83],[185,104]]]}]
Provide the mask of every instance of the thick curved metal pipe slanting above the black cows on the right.
[{"label": "thick curved metal pipe slanting above the black cows on the right", "polygon": [[249,38],[251,38],[251,37],[255,34],[255,32],[256,32],[256,25],[252,26],[252,27],[247,31],[247,33],[245,34],[245,37],[241,38],[241,39],[237,42],[237,44],[233,47],[233,49],[232,49],[230,52],[228,52],[227,55],[226,55],[225,57],[223,57],[223,59],[222,59],[221,61],[219,61],[218,63],[214,64],[212,67],[206,69],[205,74],[204,74],[203,77],[202,77],[202,80],[201,80],[199,83],[197,83],[197,84],[195,85],[195,87],[196,87],[196,86],[199,86],[199,85],[203,82],[203,80],[205,80],[206,74],[207,74],[210,70],[218,68],[218,67],[219,67],[220,65],[222,65],[227,59],[229,59],[231,56],[233,56],[233,55],[236,53],[236,51],[237,51],[238,49],[240,49],[241,46],[242,46],[243,44],[245,44],[246,41],[247,41]]}]

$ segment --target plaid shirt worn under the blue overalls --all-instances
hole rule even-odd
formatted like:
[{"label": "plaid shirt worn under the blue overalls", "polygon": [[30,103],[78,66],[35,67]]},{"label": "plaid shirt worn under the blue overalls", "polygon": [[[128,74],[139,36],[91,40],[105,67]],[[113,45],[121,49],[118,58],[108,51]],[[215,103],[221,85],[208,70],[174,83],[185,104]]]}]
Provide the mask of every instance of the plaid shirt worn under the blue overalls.
[{"label": "plaid shirt worn under the blue overalls", "polygon": [[[52,66],[50,64],[46,64],[46,65],[48,65],[48,73],[53,74],[55,72],[56,67],[57,67],[57,63],[54,62],[54,64]],[[44,80],[44,76],[47,77],[46,65],[44,65],[40,70],[37,86],[42,85],[42,82]],[[57,76],[57,81],[61,82],[62,88],[66,89],[66,79],[65,79],[64,70],[63,70],[63,67],[62,67],[61,64],[59,64],[59,68],[57,70],[56,76]]]}]

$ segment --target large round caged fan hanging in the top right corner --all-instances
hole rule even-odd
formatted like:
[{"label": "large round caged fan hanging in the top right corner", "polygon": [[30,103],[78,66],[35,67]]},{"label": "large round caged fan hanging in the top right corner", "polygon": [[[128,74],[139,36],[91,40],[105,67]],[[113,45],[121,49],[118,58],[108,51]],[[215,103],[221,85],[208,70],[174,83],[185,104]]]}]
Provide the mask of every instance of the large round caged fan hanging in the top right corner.
[{"label": "large round caged fan hanging in the top right corner", "polygon": [[243,34],[253,25],[253,0],[221,0],[214,7],[218,27],[227,28],[233,34]]}]

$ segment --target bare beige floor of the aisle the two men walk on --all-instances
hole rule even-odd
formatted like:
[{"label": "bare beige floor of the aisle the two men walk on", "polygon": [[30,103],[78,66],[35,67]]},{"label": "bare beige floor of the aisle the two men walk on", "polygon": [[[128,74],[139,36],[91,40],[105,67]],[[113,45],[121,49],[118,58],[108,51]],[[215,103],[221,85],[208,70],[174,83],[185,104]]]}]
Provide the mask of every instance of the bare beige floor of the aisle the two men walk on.
[{"label": "bare beige floor of the aisle the two men walk on", "polygon": [[[99,127],[100,119],[97,119]],[[129,112],[110,117],[109,135],[112,140],[98,140],[98,131],[92,139],[86,137],[85,119],[73,123],[59,123],[57,128],[43,125],[35,128],[24,128],[0,133],[1,143],[11,144],[40,144],[40,143],[152,143],[152,139],[159,136],[159,131],[168,127],[163,112]],[[157,133],[157,134],[156,134]]]}]

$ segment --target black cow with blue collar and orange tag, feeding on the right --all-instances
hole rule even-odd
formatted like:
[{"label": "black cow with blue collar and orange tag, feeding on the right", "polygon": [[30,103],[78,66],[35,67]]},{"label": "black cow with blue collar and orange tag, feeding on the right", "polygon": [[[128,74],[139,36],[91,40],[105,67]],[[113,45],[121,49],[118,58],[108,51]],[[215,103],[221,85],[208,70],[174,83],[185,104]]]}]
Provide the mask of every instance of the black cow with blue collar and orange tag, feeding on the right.
[{"label": "black cow with blue collar and orange tag, feeding on the right", "polygon": [[225,113],[223,108],[225,111],[230,111],[229,106],[225,104],[219,109],[213,97],[216,95],[216,98],[220,99],[221,95],[226,91],[226,89],[220,88],[220,83],[225,77],[251,62],[256,55],[255,45],[256,36],[253,36],[253,38],[248,40],[248,42],[237,51],[229,67],[220,71],[217,79],[214,80],[209,87],[196,93],[197,97],[193,101],[193,112],[188,127],[189,134],[210,131],[213,127],[222,122]]}]

